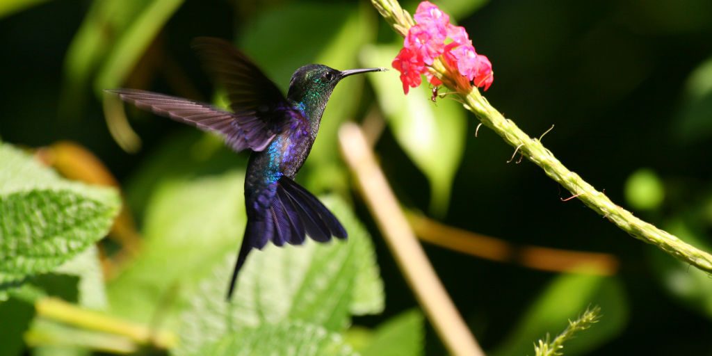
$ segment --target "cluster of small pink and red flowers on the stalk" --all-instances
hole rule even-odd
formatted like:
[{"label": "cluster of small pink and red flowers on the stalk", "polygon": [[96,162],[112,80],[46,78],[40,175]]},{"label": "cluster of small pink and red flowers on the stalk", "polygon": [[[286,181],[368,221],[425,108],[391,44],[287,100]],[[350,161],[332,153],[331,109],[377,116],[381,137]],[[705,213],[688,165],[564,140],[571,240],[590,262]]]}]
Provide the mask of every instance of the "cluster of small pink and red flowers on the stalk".
[{"label": "cluster of small pink and red flowers on the stalk", "polygon": [[420,3],[413,17],[417,25],[409,29],[403,49],[392,63],[401,73],[404,93],[420,85],[421,74],[425,74],[432,85],[442,84],[427,69],[439,56],[476,86],[487,90],[492,85],[492,63],[475,52],[464,27],[453,26],[450,16],[429,1]]}]

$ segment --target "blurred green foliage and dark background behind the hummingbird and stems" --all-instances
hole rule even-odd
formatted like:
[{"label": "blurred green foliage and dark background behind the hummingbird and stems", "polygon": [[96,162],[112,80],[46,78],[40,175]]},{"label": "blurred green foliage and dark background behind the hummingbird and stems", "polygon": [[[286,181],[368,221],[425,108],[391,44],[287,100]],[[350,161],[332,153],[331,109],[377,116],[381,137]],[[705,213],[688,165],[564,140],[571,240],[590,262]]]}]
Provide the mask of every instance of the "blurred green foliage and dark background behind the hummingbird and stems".
[{"label": "blurred green foliage and dark background behind the hummingbird and stems", "polygon": [[[562,162],[617,204],[712,246],[709,1],[435,2],[491,59],[491,103],[533,137],[555,124],[543,142]],[[417,1],[403,4],[413,11]],[[712,352],[709,276],[629,239],[577,201],[562,203],[536,167],[505,163],[512,150],[498,137],[483,128],[475,138],[476,119],[454,100],[431,103],[427,86],[403,96],[395,71],[337,86],[298,176],[313,192],[333,193],[323,197],[350,240],[254,253],[225,303],[245,222],[246,155],[132,109],[144,147],[128,154],[110,135],[101,92],[126,86],[214,98],[189,48],[196,36],[232,39],[283,89],[306,63],[389,67],[399,42],[366,1],[0,1],[0,135],[14,145],[0,146],[0,297],[14,295],[0,303],[0,355],[136,347],[37,316],[19,292],[169,330],[180,340],[168,350],[175,355],[238,347],[444,354],[352,197],[336,150],[340,123],[367,116],[384,125],[374,131],[375,150],[404,205],[516,244],[619,259],[617,276],[557,275],[426,246],[485,350],[530,354],[535,340],[600,305],[600,323],[567,342],[566,355]],[[80,142],[107,164],[139,223],[140,253],[110,278],[90,246],[117,213],[115,190],[67,182],[16,148],[58,140]],[[20,237],[35,242],[19,248]],[[100,246],[108,256],[120,251],[113,241]]]}]

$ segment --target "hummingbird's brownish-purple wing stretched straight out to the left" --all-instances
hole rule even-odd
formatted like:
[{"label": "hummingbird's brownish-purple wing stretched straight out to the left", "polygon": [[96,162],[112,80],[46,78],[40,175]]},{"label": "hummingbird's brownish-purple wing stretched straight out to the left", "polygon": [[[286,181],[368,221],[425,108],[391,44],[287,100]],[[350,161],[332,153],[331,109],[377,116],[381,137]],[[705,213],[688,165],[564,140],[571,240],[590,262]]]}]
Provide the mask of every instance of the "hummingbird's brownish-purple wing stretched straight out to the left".
[{"label": "hummingbird's brownish-purple wing stretched straight out to the left", "polygon": [[122,100],[136,105],[137,108],[150,110],[157,115],[170,117],[204,131],[217,132],[223,135],[226,144],[236,151],[246,148],[253,151],[264,150],[276,135],[273,125],[268,125],[254,112],[228,112],[209,104],[145,90],[106,91],[118,94]]}]

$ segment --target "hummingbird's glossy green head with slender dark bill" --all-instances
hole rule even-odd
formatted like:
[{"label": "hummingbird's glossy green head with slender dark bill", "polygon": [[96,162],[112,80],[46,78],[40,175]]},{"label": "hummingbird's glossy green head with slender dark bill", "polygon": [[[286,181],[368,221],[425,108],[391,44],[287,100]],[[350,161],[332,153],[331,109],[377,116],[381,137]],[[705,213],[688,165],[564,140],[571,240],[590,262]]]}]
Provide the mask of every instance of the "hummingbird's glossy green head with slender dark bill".
[{"label": "hummingbird's glossy green head with slender dark bill", "polygon": [[349,75],[366,72],[380,72],[386,68],[365,68],[352,70],[336,70],[321,64],[303,66],[294,72],[289,81],[287,97],[305,106],[323,108],[329,100],[331,92],[340,80]]}]

